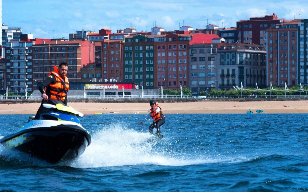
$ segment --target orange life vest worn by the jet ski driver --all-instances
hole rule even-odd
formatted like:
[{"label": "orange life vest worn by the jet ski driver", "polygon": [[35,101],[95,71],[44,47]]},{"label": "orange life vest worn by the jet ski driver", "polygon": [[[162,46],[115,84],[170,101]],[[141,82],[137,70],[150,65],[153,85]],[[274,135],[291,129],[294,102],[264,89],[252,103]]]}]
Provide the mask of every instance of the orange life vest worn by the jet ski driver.
[{"label": "orange life vest worn by the jet ski driver", "polygon": [[67,96],[67,92],[70,89],[70,82],[68,81],[67,76],[64,77],[64,80],[62,79],[62,77],[59,75],[59,69],[57,66],[54,66],[54,71],[50,72],[48,76],[51,74],[55,75],[56,83],[49,84],[51,93],[50,99],[64,101],[65,97]]}]

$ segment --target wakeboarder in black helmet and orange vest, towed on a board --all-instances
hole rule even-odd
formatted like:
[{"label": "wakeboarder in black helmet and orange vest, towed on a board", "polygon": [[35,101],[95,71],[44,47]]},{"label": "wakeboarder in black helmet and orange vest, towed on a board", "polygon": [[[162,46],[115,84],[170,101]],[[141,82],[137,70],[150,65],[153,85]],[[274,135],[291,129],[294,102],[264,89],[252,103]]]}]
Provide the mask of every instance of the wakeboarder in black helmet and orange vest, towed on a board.
[{"label": "wakeboarder in black helmet and orange vest, towed on a board", "polygon": [[[152,117],[154,121],[149,126],[149,131],[151,134],[153,134],[153,129],[156,128],[156,133],[160,134],[160,126],[162,126],[165,123],[165,115],[154,100],[150,100],[150,106],[151,106],[150,115],[146,119]],[[142,123],[143,122],[141,121],[140,125],[142,125]]]}]

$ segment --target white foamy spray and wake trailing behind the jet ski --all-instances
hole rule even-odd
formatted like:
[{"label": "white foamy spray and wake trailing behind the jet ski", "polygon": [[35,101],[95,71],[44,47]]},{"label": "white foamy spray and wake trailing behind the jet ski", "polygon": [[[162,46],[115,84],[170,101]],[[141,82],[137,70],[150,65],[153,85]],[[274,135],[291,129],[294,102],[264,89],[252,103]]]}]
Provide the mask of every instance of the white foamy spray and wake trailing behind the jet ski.
[{"label": "white foamy spray and wake trailing behind the jet ski", "polygon": [[[151,135],[148,132],[121,128],[120,124],[101,128],[92,135],[91,145],[73,162],[71,167],[93,168],[124,165],[156,164],[183,166],[203,163],[234,163],[249,161],[245,156],[196,155],[176,152],[169,138],[164,137],[158,143],[146,142]],[[180,150],[179,150],[180,151]]]}]

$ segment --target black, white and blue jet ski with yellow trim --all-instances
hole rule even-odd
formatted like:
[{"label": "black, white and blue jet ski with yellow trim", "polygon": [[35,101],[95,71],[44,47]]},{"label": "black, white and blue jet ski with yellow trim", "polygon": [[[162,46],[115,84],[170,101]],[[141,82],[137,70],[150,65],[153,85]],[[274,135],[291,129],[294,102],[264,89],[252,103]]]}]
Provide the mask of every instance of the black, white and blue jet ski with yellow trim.
[{"label": "black, white and blue jet ski with yellow trim", "polygon": [[69,161],[79,157],[91,143],[89,132],[77,116],[83,114],[62,102],[43,104],[50,112],[41,114],[39,120],[29,117],[19,131],[0,139],[0,144],[30,154],[49,163]]}]

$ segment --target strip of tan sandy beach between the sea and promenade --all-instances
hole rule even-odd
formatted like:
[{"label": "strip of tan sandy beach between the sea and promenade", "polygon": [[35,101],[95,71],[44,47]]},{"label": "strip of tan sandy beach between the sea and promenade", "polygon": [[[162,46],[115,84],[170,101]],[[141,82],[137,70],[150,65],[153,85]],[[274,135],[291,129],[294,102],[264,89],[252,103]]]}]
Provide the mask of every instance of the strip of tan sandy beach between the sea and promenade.
[{"label": "strip of tan sandy beach between the sea and promenade", "polygon": [[[246,113],[263,110],[263,113],[308,113],[308,101],[249,101],[194,103],[158,103],[168,113]],[[148,113],[149,103],[68,103],[84,114],[133,114]],[[40,103],[0,104],[0,114],[35,114]],[[284,107],[286,106],[286,107]],[[113,112],[113,113],[112,113]]]}]

